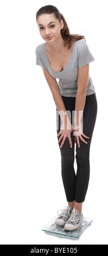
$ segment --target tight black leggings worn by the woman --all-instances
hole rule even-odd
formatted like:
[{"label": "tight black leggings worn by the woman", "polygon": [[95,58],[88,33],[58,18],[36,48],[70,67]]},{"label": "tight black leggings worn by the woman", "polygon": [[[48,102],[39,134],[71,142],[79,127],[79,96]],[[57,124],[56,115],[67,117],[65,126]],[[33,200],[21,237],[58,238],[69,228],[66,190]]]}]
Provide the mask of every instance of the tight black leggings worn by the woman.
[{"label": "tight black leggings worn by the woman", "polygon": [[[76,97],[66,97],[62,96],[66,111],[71,111],[71,117],[75,110],[75,99]],[[72,113],[73,111],[73,113]],[[68,113],[68,111],[67,111]],[[85,108],[83,112],[83,124],[82,131],[89,139],[82,136],[88,143],[84,143],[79,138],[80,148],[76,142],[76,161],[77,161],[77,174],[74,170],[74,135],[71,132],[72,148],[70,147],[68,137],[65,140],[62,148],[60,148],[62,139],[59,143],[59,148],[61,152],[61,175],[63,186],[65,188],[67,202],[82,203],[85,200],[88,181],[90,178],[90,144],[92,139],[92,134],[94,130],[94,125],[96,123],[97,117],[97,97],[96,93],[86,96]],[[72,123],[73,118],[71,119]],[[57,134],[60,132],[62,121],[56,108],[56,129]],[[72,123],[73,124],[73,123]],[[60,135],[61,136],[61,135]],[[58,137],[58,140],[60,138]]]}]

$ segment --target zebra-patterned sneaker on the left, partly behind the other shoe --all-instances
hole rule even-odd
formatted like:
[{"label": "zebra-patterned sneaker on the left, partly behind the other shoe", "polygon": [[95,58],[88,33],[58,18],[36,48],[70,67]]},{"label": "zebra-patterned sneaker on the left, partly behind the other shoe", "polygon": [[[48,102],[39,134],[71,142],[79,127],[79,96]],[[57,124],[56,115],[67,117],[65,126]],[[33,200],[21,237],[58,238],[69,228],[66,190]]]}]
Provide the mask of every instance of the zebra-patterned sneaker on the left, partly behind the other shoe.
[{"label": "zebra-patterned sneaker on the left, partly behind the other shoe", "polygon": [[61,214],[59,215],[58,218],[55,220],[56,225],[65,225],[66,221],[69,219],[71,216],[73,208],[71,206],[67,206],[66,209],[63,209]]}]

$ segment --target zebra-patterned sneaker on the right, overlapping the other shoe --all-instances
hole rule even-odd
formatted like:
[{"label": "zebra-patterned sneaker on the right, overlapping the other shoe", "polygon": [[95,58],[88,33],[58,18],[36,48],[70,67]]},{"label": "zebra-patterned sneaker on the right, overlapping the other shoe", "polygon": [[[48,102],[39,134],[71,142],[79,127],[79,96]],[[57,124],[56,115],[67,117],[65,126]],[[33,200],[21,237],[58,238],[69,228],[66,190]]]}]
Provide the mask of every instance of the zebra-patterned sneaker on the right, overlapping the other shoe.
[{"label": "zebra-patterned sneaker on the right, overlapping the other shoe", "polygon": [[74,230],[77,229],[81,223],[83,218],[82,212],[73,209],[71,216],[69,217],[68,221],[65,224],[65,230]]}]

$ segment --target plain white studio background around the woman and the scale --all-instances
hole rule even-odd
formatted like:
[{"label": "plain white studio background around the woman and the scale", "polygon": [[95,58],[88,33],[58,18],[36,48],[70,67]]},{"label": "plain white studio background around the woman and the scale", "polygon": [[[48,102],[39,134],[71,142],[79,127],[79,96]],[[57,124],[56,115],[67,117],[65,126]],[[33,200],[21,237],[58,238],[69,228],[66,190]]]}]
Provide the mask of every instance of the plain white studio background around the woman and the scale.
[{"label": "plain white studio background around the woman and the scale", "polygon": [[[93,222],[77,241],[41,230],[67,206],[55,102],[35,56],[36,46],[45,42],[36,12],[47,4],[65,16],[71,33],[85,36],[95,58],[90,75],[98,114],[90,150],[90,183],[82,208]],[[107,1],[5,0],[0,5],[0,243],[107,244]]]}]

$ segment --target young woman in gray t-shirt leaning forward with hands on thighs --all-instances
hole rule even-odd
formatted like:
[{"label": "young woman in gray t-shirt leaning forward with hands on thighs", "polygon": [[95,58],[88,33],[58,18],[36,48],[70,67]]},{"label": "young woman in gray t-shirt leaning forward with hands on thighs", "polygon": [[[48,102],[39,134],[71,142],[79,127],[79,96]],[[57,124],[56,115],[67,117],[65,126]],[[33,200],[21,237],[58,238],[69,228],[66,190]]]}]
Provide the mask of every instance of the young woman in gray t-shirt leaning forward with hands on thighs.
[{"label": "young woman in gray t-shirt leaning forward with hands on thighs", "polygon": [[61,174],[68,202],[55,223],[73,230],[83,218],[82,203],[90,176],[90,144],[97,117],[96,91],[89,75],[89,63],[94,57],[85,37],[70,34],[63,15],[53,5],[40,8],[36,22],[46,41],[36,47],[36,64],[43,69],[56,105]]}]

